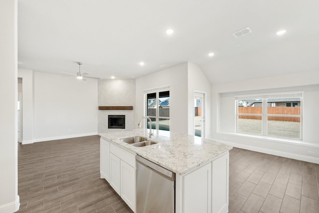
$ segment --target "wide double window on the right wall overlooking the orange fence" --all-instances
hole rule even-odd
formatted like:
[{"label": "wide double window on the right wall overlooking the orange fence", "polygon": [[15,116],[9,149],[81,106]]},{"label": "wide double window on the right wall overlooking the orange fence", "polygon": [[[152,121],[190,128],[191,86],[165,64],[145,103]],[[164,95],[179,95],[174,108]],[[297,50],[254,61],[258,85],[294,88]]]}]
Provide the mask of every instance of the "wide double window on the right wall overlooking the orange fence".
[{"label": "wide double window on the right wall overlooking the orange fence", "polygon": [[302,139],[302,94],[286,96],[236,97],[236,132]]}]

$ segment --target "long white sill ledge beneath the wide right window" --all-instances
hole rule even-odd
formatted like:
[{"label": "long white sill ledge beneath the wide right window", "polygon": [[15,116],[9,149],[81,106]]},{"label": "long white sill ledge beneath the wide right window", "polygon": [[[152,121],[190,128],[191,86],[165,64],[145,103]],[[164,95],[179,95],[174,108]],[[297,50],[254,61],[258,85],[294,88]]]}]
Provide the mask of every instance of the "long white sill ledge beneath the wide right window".
[{"label": "long white sill ledge beneath the wide right window", "polygon": [[249,139],[259,139],[263,141],[271,141],[276,143],[283,143],[283,144],[291,144],[296,146],[303,146],[303,147],[313,147],[318,148],[319,144],[306,142],[302,140],[294,140],[294,139],[288,139],[288,138],[276,138],[276,137],[270,137],[270,136],[261,136],[261,135],[251,135],[251,134],[244,134],[244,133],[231,133],[231,132],[216,132],[217,134],[221,135],[229,135],[229,136],[238,136],[241,138],[249,138]]}]

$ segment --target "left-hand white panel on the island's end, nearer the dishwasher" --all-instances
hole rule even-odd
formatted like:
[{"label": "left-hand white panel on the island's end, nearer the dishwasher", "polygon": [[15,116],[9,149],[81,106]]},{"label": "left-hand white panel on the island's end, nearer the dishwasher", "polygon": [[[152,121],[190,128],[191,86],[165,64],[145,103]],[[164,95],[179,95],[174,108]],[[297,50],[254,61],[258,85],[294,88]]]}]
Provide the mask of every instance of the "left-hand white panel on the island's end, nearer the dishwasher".
[{"label": "left-hand white panel on the island's end, nearer the dishwasher", "polygon": [[210,213],[211,163],[183,177],[183,212]]}]

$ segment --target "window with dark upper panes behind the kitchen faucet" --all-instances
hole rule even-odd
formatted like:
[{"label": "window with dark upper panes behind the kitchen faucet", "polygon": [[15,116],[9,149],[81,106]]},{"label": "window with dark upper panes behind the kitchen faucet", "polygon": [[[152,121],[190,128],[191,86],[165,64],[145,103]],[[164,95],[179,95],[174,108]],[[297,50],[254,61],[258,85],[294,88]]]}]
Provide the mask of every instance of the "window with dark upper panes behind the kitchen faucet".
[{"label": "window with dark upper panes behind the kitchen faucet", "polygon": [[146,115],[152,120],[152,129],[169,131],[169,100],[168,90],[146,94]]}]

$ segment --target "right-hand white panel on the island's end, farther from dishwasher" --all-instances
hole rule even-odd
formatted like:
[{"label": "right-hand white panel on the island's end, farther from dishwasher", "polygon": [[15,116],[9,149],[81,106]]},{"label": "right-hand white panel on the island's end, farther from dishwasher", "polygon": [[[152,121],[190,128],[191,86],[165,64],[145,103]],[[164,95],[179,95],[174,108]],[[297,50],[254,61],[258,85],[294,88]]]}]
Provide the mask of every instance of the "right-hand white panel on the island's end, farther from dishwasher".
[{"label": "right-hand white panel on the island's end, farther from dishwasher", "polygon": [[228,213],[229,153],[212,162],[212,213]]}]

